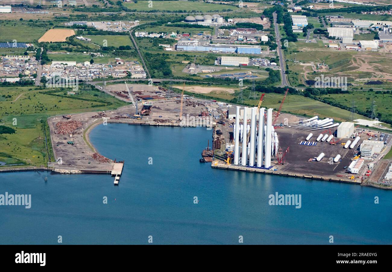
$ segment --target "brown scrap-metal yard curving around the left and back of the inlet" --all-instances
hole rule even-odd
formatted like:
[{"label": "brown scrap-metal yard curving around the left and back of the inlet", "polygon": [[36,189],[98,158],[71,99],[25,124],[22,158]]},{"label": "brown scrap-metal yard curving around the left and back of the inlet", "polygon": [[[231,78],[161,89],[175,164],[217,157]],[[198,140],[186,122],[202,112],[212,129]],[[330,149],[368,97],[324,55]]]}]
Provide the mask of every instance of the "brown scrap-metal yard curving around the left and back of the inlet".
[{"label": "brown scrap-metal yard curving around the left and back of the inlet", "polygon": [[[127,95],[122,91],[105,91],[124,94],[119,96],[119,99],[129,102],[129,105],[113,111],[84,112],[48,118],[56,159],[55,162],[49,163],[50,168],[66,174],[109,174],[118,167],[116,158],[103,157],[91,145],[89,132],[96,125],[127,123],[177,127],[212,126],[214,122],[208,112],[218,116],[224,114],[217,103],[188,97],[183,92],[176,94],[172,90],[149,85],[144,85],[145,90],[140,90],[141,84],[138,84],[135,90],[134,86],[126,83],[122,83],[122,87],[118,85],[120,84],[117,84],[116,89],[127,90]],[[159,98],[155,97],[158,94]]]}]

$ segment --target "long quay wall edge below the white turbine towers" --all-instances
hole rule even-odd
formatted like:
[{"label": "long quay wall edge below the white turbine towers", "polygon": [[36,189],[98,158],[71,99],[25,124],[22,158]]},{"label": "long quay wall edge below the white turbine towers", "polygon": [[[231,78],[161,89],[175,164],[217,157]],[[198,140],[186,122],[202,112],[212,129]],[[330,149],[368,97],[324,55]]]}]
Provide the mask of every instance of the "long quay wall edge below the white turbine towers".
[{"label": "long quay wall edge below the white turbine towers", "polygon": [[333,181],[333,182],[361,184],[361,181],[352,181],[352,180],[343,180],[343,179],[338,179],[338,178],[313,176],[310,174],[292,174],[292,173],[287,173],[287,172],[276,172],[274,170],[258,169],[258,168],[253,168],[253,167],[243,167],[243,166],[238,166],[238,165],[227,165],[227,164],[220,163],[220,161],[216,161],[216,160],[211,163],[211,167],[216,168],[216,169],[272,174],[272,175],[278,175],[278,176],[289,176],[289,177],[293,177],[293,178],[307,178],[307,179],[311,179],[311,180],[324,180],[324,181]]}]

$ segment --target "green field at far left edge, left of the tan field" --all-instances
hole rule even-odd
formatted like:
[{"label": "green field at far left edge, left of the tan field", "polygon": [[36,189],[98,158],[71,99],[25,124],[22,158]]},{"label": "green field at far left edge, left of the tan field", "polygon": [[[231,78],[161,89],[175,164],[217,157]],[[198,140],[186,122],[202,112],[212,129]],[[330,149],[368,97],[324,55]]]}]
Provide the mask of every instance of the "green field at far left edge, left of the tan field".
[{"label": "green field at far left edge, left of the tan field", "polygon": [[0,42],[33,42],[50,28],[49,23],[24,21],[0,21]]}]

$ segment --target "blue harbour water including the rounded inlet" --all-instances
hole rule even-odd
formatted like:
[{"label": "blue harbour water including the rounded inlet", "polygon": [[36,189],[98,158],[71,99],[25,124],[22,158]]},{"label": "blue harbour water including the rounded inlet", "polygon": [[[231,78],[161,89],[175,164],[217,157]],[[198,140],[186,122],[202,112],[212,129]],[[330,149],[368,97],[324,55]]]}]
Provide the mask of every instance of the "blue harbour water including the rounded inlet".
[{"label": "blue harbour water including the rounded inlet", "polygon": [[[238,244],[239,236],[244,244],[328,244],[330,236],[335,244],[392,243],[391,191],[212,169],[199,162],[211,133],[99,125],[93,145],[125,160],[119,186],[103,174],[0,174],[0,194],[31,194],[30,209],[0,206],[0,243],[57,244],[58,236],[63,244],[147,244],[149,236],[154,244]],[[301,208],[269,205],[276,192],[301,194]]]}]

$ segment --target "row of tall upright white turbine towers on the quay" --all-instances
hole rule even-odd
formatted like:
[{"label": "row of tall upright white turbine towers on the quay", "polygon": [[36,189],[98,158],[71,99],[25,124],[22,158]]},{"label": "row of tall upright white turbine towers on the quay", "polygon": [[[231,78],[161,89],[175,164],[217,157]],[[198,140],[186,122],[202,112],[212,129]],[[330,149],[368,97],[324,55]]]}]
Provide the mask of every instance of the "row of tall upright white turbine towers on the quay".
[{"label": "row of tall upright white turbine towers on the quay", "polygon": [[[257,107],[251,108],[250,126],[247,123],[248,110],[248,107],[243,107],[243,125],[240,126],[240,106],[237,106],[236,108],[236,123],[234,126],[234,165],[249,165],[253,167],[256,164],[257,167],[270,169],[272,149],[275,154],[278,149],[278,136],[272,127],[272,109],[267,110],[267,122],[265,122],[265,108],[259,110],[258,129],[256,129]],[[248,142],[249,130],[250,138]],[[240,154],[242,154],[241,161]]]}]

